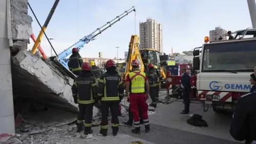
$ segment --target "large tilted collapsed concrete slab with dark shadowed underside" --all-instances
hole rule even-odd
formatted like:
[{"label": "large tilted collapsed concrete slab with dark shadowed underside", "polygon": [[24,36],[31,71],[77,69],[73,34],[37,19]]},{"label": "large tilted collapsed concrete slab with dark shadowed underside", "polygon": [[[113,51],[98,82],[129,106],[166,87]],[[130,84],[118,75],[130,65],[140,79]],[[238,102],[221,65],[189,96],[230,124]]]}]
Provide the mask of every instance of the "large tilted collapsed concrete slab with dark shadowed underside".
[{"label": "large tilted collapsed concrete slab with dark shadowed underside", "polygon": [[51,61],[21,50],[12,57],[12,77],[16,97],[77,111],[71,91],[73,79],[60,73]]}]

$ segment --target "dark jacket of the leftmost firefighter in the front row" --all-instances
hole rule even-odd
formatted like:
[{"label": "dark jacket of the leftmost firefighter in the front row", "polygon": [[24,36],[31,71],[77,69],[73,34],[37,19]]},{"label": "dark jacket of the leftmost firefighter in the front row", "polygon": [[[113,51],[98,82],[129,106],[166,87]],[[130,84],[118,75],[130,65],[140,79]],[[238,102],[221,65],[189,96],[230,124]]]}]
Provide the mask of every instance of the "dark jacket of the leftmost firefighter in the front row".
[{"label": "dark jacket of the leftmost firefighter in the front row", "polygon": [[72,93],[78,104],[92,104],[97,97],[96,80],[91,76],[91,72],[80,74],[74,80]]}]

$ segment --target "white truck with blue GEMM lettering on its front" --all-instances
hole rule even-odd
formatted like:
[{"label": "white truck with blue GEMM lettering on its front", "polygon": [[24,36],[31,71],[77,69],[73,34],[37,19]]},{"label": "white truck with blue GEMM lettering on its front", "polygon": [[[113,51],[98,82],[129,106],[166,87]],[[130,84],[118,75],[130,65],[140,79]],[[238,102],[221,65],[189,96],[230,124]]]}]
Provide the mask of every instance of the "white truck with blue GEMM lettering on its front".
[{"label": "white truck with blue GEMM lettering on its front", "polygon": [[[205,43],[201,51],[193,52],[193,68],[199,71],[194,86],[197,99],[212,105],[216,112],[233,109],[239,97],[251,89],[249,79],[256,64],[256,29],[236,31],[233,35],[234,40]],[[204,110],[207,111],[205,107]]]}]

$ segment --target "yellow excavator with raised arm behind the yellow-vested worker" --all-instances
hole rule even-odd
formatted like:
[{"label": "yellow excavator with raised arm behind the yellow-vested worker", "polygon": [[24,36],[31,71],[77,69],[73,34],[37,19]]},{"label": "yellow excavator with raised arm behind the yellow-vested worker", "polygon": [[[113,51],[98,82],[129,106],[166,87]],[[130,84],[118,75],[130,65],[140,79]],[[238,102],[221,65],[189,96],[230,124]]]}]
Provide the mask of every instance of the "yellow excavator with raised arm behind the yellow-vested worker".
[{"label": "yellow excavator with raised arm behind the yellow-vested worker", "polygon": [[140,50],[139,48],[139,36],[138,35],[132,35],[131,40],[129,43],[129,51],[127,55],[126,60],[126,66],[125,71],[123,74],[123,80],[125,80],[126,76],[129,74],[130,71],[132,71],[132,60],[137,59],[140,62],[140,70],[141,71],[147,71],[147,64],[152,63],[154,65],[157,65],[163,79],[166,78],[165,72],[163,67],[160,63],[160,52],[156,51],[155,49],[143,49]]}]

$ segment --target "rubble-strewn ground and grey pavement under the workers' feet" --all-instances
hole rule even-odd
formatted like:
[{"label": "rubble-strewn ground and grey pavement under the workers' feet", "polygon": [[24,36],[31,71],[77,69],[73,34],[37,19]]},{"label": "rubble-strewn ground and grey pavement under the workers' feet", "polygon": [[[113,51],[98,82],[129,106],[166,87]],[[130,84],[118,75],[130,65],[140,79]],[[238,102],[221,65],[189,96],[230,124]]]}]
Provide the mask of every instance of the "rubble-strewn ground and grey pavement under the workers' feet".
[{"label": "rubble-strewn ground and grey pavement under the workers' feet", "polygon": [[[160,91],[160,98],[164,99],[165,91]],[[148,100],[150,103],[150,100]],[[168,102],[169,103],[169,102]],[[122,116],[119,116],[120,127],[117,136],[112,135],[111,127],[108,136],[99,134],[100,115],[94,113],[93,134],[85,136],[83,132],[76,132],[74,123],[76,114],[57,109],[48,109],[34,113],[27,113],[24,117],[24,126],[17,129],[18,134],[10,136],[10,140],[16,138],[16,143],[131,143],[132,141],[142,141],[144,143],[238,143],[229,134],[231,122],[230,113],[215,113],[209,108],[208,112],[203,112],[199,102],[191,102],[190,114],[200,114],[208,123],[208,127],[195,127],[188,125],[186,119],[189,114],[180,114],[184,105],[182,100],[172,100],[169,104],[158,104],[155,112],[150,114],[152,131],[144,132],[141,127],[141,134],[131,133],[130,127],[122,125],[127,121],[128,103],[122,103]],[[30,117],[29,117],[30,116]],[[19,139],[19,141],[18,141]],[[17,142],[18,141],[18,142]]]}]

